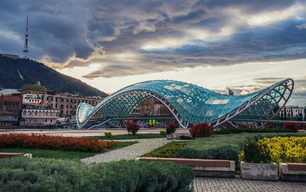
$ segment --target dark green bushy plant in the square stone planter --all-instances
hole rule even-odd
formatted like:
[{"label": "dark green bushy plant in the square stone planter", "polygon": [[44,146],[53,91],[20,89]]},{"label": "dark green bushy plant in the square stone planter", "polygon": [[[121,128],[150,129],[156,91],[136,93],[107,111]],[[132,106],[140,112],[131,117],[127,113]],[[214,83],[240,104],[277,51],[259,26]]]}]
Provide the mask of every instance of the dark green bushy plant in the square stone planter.
[{"label": "dark green bushy plant in the square stone planter", "polygon": [[243,146],[243,161],[247,163],[270,163],[270,150],[266,144],[258,142],[248,142]]}]

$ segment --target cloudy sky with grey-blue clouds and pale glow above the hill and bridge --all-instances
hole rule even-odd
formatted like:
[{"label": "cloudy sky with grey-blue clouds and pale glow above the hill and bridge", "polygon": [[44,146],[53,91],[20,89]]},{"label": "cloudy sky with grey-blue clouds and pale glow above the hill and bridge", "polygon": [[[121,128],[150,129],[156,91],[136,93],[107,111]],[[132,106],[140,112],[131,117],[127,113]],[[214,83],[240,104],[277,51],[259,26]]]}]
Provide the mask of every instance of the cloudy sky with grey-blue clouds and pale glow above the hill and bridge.
[{"label": "cloudy sky with grey-blue clouds and pale glow above the hill and bridge", "polygon": [[1,1],[0,53],[29,56],[105,92],[175,79],[245,94],[295,80],[306,103],[306,1]]}]

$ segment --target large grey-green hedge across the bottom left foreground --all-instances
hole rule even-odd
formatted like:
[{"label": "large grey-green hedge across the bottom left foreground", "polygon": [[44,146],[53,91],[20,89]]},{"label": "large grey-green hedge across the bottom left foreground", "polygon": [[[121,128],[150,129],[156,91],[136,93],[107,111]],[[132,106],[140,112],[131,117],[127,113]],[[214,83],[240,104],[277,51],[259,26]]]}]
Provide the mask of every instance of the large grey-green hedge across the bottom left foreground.
[{"label": "large grey-green hedge across the bottom left foreground", "polygon": [[193,191],[190,167],[171,162],[0,159],[0,191]]}]

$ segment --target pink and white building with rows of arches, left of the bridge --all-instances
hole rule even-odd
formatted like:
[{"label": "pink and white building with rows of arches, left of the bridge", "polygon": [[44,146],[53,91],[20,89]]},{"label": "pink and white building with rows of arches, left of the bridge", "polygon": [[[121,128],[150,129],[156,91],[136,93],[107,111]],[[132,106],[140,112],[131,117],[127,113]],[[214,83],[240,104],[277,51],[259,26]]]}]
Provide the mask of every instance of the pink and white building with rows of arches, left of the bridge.
[{"label": "pink and white building with rows of arches, left of the bridge", "polygon": [[23,103],[22,118],[25,126],[56,125],[59,119],[59,110],[52,109],[48,104]]}]

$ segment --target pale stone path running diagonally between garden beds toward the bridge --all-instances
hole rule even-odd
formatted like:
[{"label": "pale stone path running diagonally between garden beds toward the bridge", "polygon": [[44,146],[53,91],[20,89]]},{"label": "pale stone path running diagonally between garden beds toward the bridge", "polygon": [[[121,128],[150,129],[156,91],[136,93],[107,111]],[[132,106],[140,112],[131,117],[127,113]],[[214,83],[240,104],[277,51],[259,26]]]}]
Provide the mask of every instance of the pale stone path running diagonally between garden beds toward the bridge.
[{"label": "pale stone path running diagonally between garden beds toward the bridge", "polygon": [[150,152],[158,147],[161,147],[169,142],[166,138],[155,139],[124,139],[116,141],[138,141],[138,143],[115,149],[105,153],[96,154],[91,157],[81,159],[81,162],[86,164],[118,161],[120,159],[135,159],[144,153]]}]

